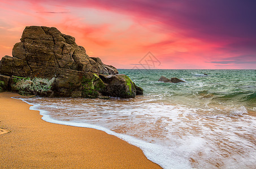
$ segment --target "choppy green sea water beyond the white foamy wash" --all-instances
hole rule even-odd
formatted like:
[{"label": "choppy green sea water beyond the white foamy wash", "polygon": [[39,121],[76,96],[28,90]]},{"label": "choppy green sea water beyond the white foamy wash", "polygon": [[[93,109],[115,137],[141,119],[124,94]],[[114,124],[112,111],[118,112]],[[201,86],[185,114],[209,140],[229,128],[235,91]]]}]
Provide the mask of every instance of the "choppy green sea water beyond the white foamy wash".
[{"label": "choppy green sea water beyond the white foamy wash", "polygon": [[[145,95],[154,96],[172,104],[218,109],[245,106],[256,111],[256,70],[132,70],[119,69],[127,74],[138,86],[144,88]],[[207,74],[207,75],[205,75]],[[184,79],[186,83],[158,82],[161,76]],[[228,111],[208,112],[209,115]]]}]

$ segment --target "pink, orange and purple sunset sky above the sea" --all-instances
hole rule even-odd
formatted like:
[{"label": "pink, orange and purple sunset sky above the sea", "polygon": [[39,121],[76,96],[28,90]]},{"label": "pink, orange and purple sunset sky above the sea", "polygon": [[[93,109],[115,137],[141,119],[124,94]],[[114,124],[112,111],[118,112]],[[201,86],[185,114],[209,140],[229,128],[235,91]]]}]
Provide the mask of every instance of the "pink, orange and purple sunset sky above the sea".
[{"label": "pink, orange and purple sunset sky above the sea", "polygon": [[119,69],[256,69],[255,9],[254,0],[0,0],[0,58],[38,25]]}]

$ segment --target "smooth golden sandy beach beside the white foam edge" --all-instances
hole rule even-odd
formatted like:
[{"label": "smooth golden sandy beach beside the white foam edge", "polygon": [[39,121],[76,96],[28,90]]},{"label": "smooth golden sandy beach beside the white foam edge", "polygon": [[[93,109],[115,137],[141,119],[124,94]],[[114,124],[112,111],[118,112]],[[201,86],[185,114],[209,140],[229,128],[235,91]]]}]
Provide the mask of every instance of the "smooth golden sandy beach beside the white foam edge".
[{"label": "smooth golden sandy beach beside the white foam edge", "polygon": [[0,168],[160,168],[118,137],[45,122],[12,96],[0,93]]}]

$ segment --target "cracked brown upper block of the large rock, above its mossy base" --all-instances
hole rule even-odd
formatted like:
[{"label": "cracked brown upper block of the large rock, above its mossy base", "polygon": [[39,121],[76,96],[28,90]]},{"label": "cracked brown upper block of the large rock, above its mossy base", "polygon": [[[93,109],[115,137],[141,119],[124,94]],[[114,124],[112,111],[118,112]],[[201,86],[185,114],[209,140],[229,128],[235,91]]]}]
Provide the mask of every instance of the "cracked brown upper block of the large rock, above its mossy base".
[{"label": "cracked brown upper block of the large rock, above its mossy base", "polygon": [[14,68],[24,68],[20,73],[14,71],[21,77],[33,74],[49,77],[46,70],[49,67],[99,74],[118,73],[116,68],[103,64],[99,58],[97,61],[90,58],[83,47],[76,45],[75,38],[45,26],[27,26],[21,42],[14,45],[12,56]]}]

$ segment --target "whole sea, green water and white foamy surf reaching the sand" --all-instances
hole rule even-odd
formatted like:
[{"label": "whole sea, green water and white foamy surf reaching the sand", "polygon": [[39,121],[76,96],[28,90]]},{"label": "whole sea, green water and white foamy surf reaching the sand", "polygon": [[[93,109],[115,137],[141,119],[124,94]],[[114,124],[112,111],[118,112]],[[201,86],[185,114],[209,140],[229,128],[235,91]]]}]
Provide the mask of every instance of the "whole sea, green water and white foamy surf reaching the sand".
[{"label": "whole sea, green water and white foamy surf reaching the sand", "polygon": [[[163,168],[256,167],[256,70],[119,73],[144,88],[144,95],[19,99],[47,122],[96,128],[138,146]],[[162,75],[185,83],[158,82]]]}]

